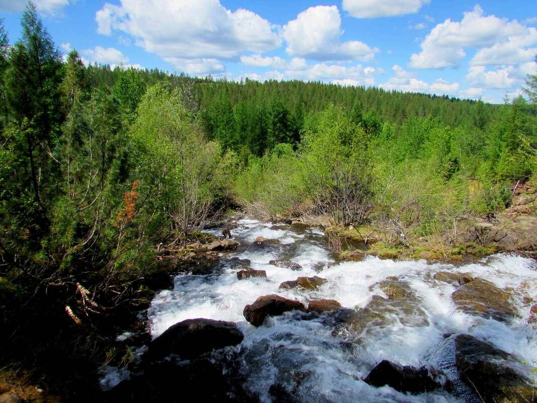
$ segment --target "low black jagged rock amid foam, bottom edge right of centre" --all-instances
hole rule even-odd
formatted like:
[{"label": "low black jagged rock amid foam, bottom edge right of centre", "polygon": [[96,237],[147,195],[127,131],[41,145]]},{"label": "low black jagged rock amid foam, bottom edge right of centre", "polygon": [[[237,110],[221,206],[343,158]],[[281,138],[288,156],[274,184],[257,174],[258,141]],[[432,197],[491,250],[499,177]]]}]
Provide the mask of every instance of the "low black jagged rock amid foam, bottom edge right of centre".
[{"label": "low black jagged rock amid foam, bottom edge right of centre", "polygon": [[[364,382],[376,387],[388,385],[399,392],[418,394],[443,387],[444,384],[439,382],[440,377],[439,373],[429,371],[425,366],[418,369],[409,365],[397,365],[384,359],[369,372]],[[445,383],[445,377],[443,380]]]}]

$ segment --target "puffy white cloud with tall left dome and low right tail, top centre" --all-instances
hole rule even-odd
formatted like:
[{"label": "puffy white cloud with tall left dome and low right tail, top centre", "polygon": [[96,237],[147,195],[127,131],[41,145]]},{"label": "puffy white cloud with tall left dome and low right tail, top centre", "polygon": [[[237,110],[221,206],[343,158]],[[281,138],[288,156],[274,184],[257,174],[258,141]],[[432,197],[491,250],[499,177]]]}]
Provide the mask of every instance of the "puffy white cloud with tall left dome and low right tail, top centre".
[{"label": "puffy white cloud with tall left dome and low right tail, top centre", "polygon": [[287,41],[286,52],[291,56],[318,61],[369,61],[379,52],[360,41],[341,43],[339,37],[342,34],[341,17],[335,5],[310,7],[282,29],[282,36]]}]

